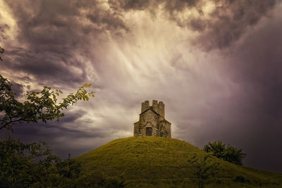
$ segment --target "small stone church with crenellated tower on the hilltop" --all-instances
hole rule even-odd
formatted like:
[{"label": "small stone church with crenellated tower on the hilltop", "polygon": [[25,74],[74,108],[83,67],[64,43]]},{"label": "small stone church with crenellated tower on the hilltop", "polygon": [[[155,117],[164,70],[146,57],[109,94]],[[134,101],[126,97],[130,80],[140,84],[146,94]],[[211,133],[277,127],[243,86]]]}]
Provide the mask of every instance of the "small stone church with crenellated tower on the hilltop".
[{"label": "small stone church with crenellated tower on the hilltop", "polygon": [[171,123],[164,118],[164,103],[153,100],[142,103],[139,121],[134,123],[134,136],[171,138]]}]

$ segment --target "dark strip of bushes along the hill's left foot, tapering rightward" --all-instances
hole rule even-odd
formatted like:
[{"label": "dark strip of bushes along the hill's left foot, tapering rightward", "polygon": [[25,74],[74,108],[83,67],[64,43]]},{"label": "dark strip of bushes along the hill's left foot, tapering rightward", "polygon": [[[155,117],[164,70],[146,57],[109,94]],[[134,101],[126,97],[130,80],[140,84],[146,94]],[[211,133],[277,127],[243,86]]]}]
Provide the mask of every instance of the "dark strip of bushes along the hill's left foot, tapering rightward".
[{"label": "dark strip of bushes along the hill's left foot, tapering rightward", "polygon": [[125,187],[123,176],[82,175],[81,163],[62,161],[44,142],[0,139],[0,187]]}]

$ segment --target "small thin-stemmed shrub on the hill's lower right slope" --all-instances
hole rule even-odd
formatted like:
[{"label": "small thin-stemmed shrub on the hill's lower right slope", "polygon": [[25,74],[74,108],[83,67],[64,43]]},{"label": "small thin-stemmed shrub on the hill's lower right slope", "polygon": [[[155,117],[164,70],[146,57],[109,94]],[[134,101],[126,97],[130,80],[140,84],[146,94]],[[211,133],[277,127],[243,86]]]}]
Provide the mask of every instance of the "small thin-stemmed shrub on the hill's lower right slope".
[{"label": "small thin-stemmed shrub on the hill's lower right slope", "polygon": [[198,187],[203,188],[204,183],[209,178],[214,177],[216,171],[219,170],[219,163],[212,160],[212,156],[205,155],[204,158],[198,158],[195,154],[192,158],[188,159],[194,169],[193,174],[197,177]]}]

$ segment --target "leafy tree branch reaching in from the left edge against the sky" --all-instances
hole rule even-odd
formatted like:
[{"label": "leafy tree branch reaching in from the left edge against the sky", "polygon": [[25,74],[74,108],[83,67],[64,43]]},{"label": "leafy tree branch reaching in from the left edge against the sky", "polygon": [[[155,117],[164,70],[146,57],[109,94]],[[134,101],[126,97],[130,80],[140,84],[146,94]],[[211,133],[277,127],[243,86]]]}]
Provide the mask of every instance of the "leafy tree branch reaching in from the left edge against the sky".
[{"label": "leafy tree branch reaching in from the left edge against the sky", "polygon": [[27,92],[27,99],[20,102],[15,99],[11,89],[11,82],[0,75],[0,112],[4,117],[0,119],[0,129],[11,123],[37,123],[39,120],[46,123],[47,120],[59,120],[63,117],[63,109],[68,108],[79,100],[88,101],[93,92],[87,92],[86,88],[91,84],[83,84],[78,91],[68,94],[61,102],[56,98],[62,94],[61,90],[52,91],[50,87],[44,87],[41,92]]}]

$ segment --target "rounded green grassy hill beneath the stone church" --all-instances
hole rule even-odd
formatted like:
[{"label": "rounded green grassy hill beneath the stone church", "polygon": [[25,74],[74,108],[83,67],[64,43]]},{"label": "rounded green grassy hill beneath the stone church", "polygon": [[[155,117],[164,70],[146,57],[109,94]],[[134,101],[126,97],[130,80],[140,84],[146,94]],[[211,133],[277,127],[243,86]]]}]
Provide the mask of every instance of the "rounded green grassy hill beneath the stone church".
[{"label": "rounded green grassy hill beneath the stone church", "polygon": [[[206,152],[187,142],[163,137],[116,139],[77,158],[87,175],[123,174],[127,187],[197,187],[188,158]],[[282,175],[212,158],[220,169],[206,187],[282,187]],[[236,177],[243,177],[243,181]],[[237,178],[238,179],[238,178]],[[239,178],[240,179],[240,178]],[[242,179],[242,178],[241,178]]]}]

